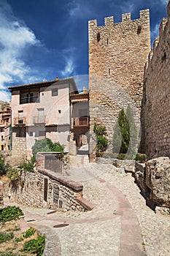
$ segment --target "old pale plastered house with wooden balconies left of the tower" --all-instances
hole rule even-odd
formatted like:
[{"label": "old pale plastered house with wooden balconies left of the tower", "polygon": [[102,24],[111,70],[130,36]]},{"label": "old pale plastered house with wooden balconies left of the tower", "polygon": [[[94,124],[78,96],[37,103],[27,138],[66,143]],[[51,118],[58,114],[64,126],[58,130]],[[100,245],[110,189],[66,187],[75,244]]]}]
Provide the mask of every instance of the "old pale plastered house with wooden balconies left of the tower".
[{"label": "old pale plastered house with wooden balconies left of the tower", "polygon": [[[9,90],[12,93],[12,159],[15,163],[31,157],[35,140],[50,138],[69,151],[70,133],[77,134],[80,128],[80,133],[73,136],[77,141],[81,132],[85,134],[87,129],[81,128],[88,127],[88,92],[79,94],[74,78],[12,86]],[[75,106],[76,98],[76,102],[84,100],[85,104]]]}]

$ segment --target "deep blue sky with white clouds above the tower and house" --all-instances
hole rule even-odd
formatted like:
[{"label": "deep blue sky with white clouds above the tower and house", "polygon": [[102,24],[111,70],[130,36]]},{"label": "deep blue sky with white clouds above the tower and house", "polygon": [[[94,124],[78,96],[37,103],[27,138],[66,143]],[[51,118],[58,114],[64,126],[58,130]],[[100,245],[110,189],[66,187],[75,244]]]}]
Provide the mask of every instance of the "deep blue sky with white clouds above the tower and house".
[{"label": "deep blue sky with white clouds above the tower and house", "polygon": [[[56,76],[88,75],[88,20],[150,9],[151,39],[158,36],[168,0],[0,0],[0,100],[7,86]],[[85,80],[87,77],[84,76]],[[78,78],[77,80],[81,80]],[[80,84],[78,84],[80,86]],[[82,84],[85,86],[85,84]]]}]

